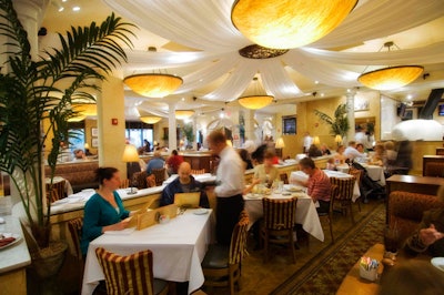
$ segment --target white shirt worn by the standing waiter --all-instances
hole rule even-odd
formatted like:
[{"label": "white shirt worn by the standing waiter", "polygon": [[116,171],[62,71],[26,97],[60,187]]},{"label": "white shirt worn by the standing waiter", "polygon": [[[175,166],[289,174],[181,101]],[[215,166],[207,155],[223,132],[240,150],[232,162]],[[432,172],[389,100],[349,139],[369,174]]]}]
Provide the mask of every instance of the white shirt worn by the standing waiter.
[{"label": "white shirt worn by the standing waiter", "polygon": [[219,154],[221,157],[215,175],[214,192],[220,197],[242,194],[244,189],[244,169],[241,156],[233,148],[226,146]]}]

